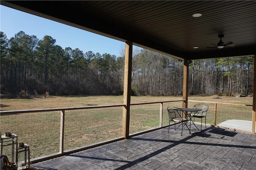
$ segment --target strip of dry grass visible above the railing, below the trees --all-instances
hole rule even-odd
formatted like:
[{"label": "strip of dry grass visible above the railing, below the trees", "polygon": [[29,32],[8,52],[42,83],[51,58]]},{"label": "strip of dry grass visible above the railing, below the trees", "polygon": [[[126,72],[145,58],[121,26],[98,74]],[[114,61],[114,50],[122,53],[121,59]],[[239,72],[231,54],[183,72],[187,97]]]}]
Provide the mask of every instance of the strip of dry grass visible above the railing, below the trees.
[{"label": "strip of dry grass visible above the railing, below the trees", "polygon": [[[216,96],[188,96],[188,100],[234,104],[252,104],[252,98],[249,97],[235,98],[229,96],[222,96],[221,99],[214,99],[214,97]],[[163,102],[171,100],[182,100],[182,96],[131,96],[131,103]],[[8,111],[122,104],[123,96],[49,96],[49,98],[33,99],[3,98],[0,100],[0,102],[0,110]]]}]

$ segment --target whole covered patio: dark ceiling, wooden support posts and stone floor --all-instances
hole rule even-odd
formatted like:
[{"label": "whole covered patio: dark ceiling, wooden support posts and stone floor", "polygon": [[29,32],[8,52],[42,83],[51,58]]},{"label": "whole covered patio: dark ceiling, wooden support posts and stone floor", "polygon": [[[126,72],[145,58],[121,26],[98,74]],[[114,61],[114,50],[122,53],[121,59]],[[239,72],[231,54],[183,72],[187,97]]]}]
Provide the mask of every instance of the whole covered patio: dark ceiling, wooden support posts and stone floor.
[{"label": "whole covered patio: dark ceiling, wooden support posts and stone floor", "polygon": [[[8,1],[1,5],[125,42],[122,138],[107,145],[64,151],[64,124],[59,154],[32,163],[44,170],[79,169],[230,169],[256,164],[256,1]],[[193,17],[193,14],[202,14]],[[198,15],[197,15],[198,16]],[[235,47],[215,45],[232,42]],[[218,37],[219,36],[219,37]],[[184,62],[182,107],[188,107],[190,61],[254,56],[252,133],[208,126],[181,136],[166,127],[132,136],[130,96],[132,47],[137,45]],[[217,47],[218,46],[218,47]],[[208,48],[210,47],[210,48]],[[213,48],[212,48],[213,47]],[[218,50],[220,49],[220,50]],[[160,106],[161,109],[162,105]],[[64,111],[61,112],[64,120]],[[80,148],[79,150],[82,150]],[[68,153],[68,154],[67,154]],[[43,161],[43,162],[42,162]],[[38,163],[39,162],[39,163]],[[36,163],[36,164],[35,164]]]}]

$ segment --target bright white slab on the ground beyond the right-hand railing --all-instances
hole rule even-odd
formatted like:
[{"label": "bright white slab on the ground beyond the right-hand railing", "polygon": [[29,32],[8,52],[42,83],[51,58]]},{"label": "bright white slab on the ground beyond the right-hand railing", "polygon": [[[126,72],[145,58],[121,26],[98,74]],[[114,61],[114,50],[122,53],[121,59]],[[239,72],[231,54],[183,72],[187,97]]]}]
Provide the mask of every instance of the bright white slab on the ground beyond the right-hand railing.
[{"label": "bright white slab on the ground beyond the right-hand railing", "polygon": [[[243,131],[252,131],[252,121],[248,120],[237,120],[237,119],[230,119],[226,120],[217,126],[221,127],[227,127],[227,128],[232,128],[232,129],[239,129]],[[255,128],[256,131],[256,128]]]}]

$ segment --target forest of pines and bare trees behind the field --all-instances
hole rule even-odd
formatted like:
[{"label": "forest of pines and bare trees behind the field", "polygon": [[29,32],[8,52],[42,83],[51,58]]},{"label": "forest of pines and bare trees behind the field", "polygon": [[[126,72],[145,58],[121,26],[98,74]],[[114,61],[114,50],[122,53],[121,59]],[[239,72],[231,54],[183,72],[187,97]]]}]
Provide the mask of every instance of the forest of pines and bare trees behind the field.
[{"label": "forest of pines and bare trees behind the field", "polygon": [[[20,31],[1,33],[0,92],[10,98],[32,95],[122,95],[124,53],[83,52]],[[191,61],[189,94],[252,94],[254,57]],[[180,95],[184,63],[149,51],[134,50],[132,95]]]}]

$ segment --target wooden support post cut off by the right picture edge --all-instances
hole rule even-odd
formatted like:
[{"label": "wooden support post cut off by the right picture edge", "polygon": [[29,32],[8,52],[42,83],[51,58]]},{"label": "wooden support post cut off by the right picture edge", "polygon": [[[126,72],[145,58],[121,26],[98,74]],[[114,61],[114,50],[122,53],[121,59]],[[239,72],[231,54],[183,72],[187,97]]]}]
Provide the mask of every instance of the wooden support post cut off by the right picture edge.
[{"label": "wooden support post cut off by the right picture edge", "polygon": [[256,121],[256,55],[254,55],[254,71],[253,71],[253,99],[252,99],[252,132],[255,133]]}]

